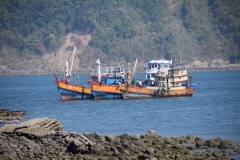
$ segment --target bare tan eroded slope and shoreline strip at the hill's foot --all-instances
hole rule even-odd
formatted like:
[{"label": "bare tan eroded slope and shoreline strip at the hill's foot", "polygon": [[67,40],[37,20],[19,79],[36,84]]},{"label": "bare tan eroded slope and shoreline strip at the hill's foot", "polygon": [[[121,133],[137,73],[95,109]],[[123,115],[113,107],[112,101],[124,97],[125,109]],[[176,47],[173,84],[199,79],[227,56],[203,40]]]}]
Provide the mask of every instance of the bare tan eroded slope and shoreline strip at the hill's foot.
[{"label": "bare tan eroded slope and shoreline strip at the hill's foot", "polygon": [[[53,53],[46,53],[42,57],[35,57],[30,60],[22,60],[17,63],[12,63],[8,65],[0,65],[0,75],[53,75],[60,74],[64,71],[65,62],[70,58],[73,46],[76,41],[80,41],[80,45],[77,46],[76,57],[80,58],[83,55],[84,47],[88,46],[91,40],[91,35],[77,35],[70,33],[64,37],[65,42]],[[183,53],[184,54],[184,53]],[[96,57],[97,59],[97,57]],[[81,60],[75,60],[75,63],[79,63],[79,69],[82,74],[90,74],[93,69],[96,68],[95,61],[92,59],[88,62],[81,62]],[[138,64],[139,72],[144,73],[142,66],[146,65],[148,61],[152,59],[141,59],[139,57],[140,63]],[[161,59],[161,57],[159,57]],[[100,59],[101,60],[101,59]],[[116,60],[117,61],[117,60]],[[113,64],[116,62],[114,59],[109,60],[107,64],[102,62],[103,66],[108,66],[108,64]],[[175,60],[179,63],[179,60]],[[82,64],[81,64],[82,63]],[[128,64],[122,62],[122,65],[127,67]],[[134,61],[131,63],[132,67]],[[227,71],[227,70],[240,70],[240,64],[230,64],[227,60],[214,59],[210,62],[194,60],[185,66],[190,71]],[[74,66],[76,67],[76,66]],[[82,68],[80,68],[82,67]],[[84,67],[84,68],[83,68]],[[131,67],[131,66],[130,66]],[[76,69],[76,68],[75,68]]]}]

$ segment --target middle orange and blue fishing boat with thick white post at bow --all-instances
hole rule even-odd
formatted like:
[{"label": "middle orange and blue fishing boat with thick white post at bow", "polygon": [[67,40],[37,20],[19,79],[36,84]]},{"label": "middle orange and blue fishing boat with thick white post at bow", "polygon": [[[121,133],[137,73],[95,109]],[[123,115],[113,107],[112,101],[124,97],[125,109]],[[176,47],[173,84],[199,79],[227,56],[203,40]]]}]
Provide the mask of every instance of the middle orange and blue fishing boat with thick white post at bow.
[{"label": "middle orange and blue fishing boat with thick white post at bow", "polygon": [[89,79],[94,99],[123,99],[119,84],[124,83],[124,68],[101,69],[99,59],[97,59],[96,64],[97,72],[92,74]]}]

